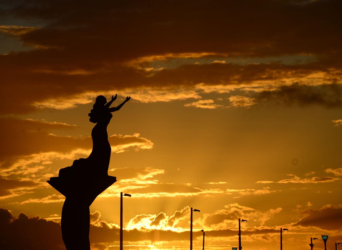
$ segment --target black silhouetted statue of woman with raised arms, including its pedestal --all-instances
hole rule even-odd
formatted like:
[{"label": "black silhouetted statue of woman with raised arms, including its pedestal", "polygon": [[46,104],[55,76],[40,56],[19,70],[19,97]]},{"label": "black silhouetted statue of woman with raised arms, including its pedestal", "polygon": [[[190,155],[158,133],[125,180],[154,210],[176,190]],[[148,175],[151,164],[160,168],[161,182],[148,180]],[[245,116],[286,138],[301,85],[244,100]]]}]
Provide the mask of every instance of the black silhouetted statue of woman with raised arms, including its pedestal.
[{"label": "black silhouetted statue of woman with raised arms, including its pedestal", "polygon": [[131,97],[127,97],[119,106],[110,108],[117,95],[112,96],[107,103],[104,96],[96,97],[90,121],[96,123],[91,131],[93,149],[88,158],[80,158],[70,167],[62,168],[58,177],[50,178],[48,183],[66,198],[62,209],[62,237],[67,250],[90,250],[89,206],[97,195],[101,194],[116,181],[108,176],[110,160],[110,144],[108,141],[107,126],[113,115]]}]

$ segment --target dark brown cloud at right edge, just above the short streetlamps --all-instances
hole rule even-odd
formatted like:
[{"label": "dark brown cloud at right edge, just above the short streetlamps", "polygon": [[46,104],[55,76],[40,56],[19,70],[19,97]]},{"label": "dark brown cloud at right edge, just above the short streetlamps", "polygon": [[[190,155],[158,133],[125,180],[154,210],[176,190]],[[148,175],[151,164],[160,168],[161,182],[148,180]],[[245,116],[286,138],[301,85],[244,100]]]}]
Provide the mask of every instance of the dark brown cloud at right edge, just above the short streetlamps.
[{"label": "dark brown cloud at right edge, just above the short streetlamps", "polygon": [[324,230],[338,230],[342,227],[342,207],[326,205],[320,209],[306,209],[305,216],[295,223],[297,226],[314,226]]}]

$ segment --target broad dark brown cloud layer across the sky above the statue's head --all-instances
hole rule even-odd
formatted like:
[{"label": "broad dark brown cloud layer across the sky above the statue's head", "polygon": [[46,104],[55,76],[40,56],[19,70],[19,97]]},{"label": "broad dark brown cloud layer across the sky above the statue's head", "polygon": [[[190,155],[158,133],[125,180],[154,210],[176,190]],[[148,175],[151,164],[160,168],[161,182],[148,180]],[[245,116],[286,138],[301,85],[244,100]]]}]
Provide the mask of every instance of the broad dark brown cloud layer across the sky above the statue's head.
[{"label": "broad dark brown cloud layer across the sky above the statue's head", "polygon": [[[331,72],[341,76],[342,3],[330,1],[14,1],[7,18],[42,27],[6,34],[34,46],[0,55],[0,114],[27,113],[32,103],[87,91],[141,86],[248,84]],[[20,30],[23,30],[22,28]],[[316,63],[186,65],[150,77],[127,66],[139,57],[214,53],[229,57],[314,55]],[[147,60],[148,61],[148,60]],[[145,63],[147,66],[148,63]],[[335,79],[335,80],[334,80]],[[19,92],[19,93],[18,93]],[[25,94],[21,94],[25,93]],[[19,97],[19,102],[14,102]],[[10,103],[10,105],[8,105]]]}]

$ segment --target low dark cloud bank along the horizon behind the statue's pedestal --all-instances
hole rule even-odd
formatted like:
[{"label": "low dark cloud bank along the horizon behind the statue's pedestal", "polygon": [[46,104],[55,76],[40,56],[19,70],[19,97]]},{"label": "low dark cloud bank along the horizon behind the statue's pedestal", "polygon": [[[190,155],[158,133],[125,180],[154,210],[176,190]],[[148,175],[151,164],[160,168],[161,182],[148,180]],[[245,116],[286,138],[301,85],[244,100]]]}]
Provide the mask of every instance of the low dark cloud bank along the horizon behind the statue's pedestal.
[{"label": "low dark cloud bank along the horizon behind the statue's pedestal", "polygon": [[[93,215],[100,217],[97,212]],[[118,242],[119,230],[104,221],[96,226],[91,224],[90,242],[93,246]],[[255,230],[245,230],[244,235],[263,235],[276,232],[278,231],[272,228],[256,228]],[[27,217],[24,213],[21,213],[18,218],[14,218],[7,209],[0,209],[0,233],[1,249],[65,249],[59,223],[39,217]],[[230,229],[206,231],[207,237],[227,237],[236,234],[237,230]],[[194,238],[201,237],[202,232],[194,231],[193,236]],[[188,240],[188,238],[189,232],[187,231],[181,233],[163,230],[138,231],[136,229],[124,231],[125,242],[178,241]]]}]

